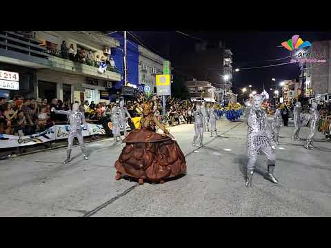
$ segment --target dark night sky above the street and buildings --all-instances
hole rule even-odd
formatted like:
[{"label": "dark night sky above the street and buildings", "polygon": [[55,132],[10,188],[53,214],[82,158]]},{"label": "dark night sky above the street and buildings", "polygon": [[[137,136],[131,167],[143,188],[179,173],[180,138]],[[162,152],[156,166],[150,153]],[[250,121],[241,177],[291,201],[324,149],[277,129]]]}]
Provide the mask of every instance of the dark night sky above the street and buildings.
[{"label": "dark night sky above the street and buildings", "polygon": [[[299,34],[303,41],[320,41],[331,39],[331,32],[203,32],[203,31],[185,31],[185,34],[190,34],[193,37],[203,39],[205,41],[221,40],[225,43],[225,47],[230,49],[233,54],[232,67],[235,68],[252,68],[263,65],[272,65],[285,63],[290,59],[279,61],[267,61],[268,59],[281,59],[289,56],[290,52],[285,48],[279,48],[283,41],[288,41],[292,35]],[[172,65],[176,69],[176,60],[181,52],[194,50],[194,43],[198,41],[183,34],[173,32],[147,32],[147,31],[132,31],[142,41],[158,52],[165,59],[170,59]],[[168,52],[170,44],[170,53]],[[168,54],[170,56],[168,57]],[[197,61],[199,63],[199,61]],[[183,72],[185,69],[180,68]],[[242,87],[253,85],[254,90],[261,92],[263,83],[265,89],[269,90],[272,87],[272,78],[277,79],[277,82],[282,79],[296,79],[299,76],[299,66],[297,64],[280,65],[273,68],[260,68],[252,70],[241,70],[234,72],[232,79],[234,92],[240,93]]]}]

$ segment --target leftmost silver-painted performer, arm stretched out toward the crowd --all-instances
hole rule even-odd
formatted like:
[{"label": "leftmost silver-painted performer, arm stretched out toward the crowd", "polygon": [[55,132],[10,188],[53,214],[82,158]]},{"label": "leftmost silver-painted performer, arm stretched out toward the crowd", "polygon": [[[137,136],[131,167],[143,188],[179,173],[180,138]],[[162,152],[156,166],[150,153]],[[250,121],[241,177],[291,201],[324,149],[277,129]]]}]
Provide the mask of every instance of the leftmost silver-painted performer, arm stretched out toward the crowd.
[{"label": "leftmost silver-painted performer, arm stretched out toward the crowd", "polygon": [[81,153],[83,154],[84,159],[88,159],[88,156],[86,156],[86,152],[85,152],[83,134],[81,134],[81,131],[82,131],[81,123],[83,123],[83,125],[84,125],[84,128],[83,128],[84,130],[87,130],[88,125],[86,123],[84,113],[79,111],[79,104],[74,103],[72,105],[72,110],[69,110],[69,111],[55,110],[55,108],[52,107],[52,112],[54,112],[55,114],[66,114],[70,121],[67,158],[63,162],[63,164],[69,163],[71,161],[70,154],[71,154],[71,147],[72,147],[72,143],[74,141],[74,137],[77,137],[77,139],[79,141],[79,145],[81,145]]}]

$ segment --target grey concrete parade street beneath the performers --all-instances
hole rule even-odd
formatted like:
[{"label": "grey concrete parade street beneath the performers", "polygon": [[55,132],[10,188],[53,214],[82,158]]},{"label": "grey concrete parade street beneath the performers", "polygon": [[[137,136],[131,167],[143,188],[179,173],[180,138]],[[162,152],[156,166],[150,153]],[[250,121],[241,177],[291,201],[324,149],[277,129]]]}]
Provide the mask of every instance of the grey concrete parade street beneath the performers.
[{"label": "grey concrete parade street beneath the performers", "polygon": [[[170,127],[185,154],[188,172],[163,184],[115,180],[114,163],[124,145],[113,139],[79,146],[66,165],[66,148],[0,161],[0,216],[331,216],[331,143],[321,133],[315,149],[292,141],[281,127],[274,176],[263,178],[259,155],[252,187],[245,187],[247,163],[242,121],[218,121],[219,136],[204,133],[204,147],[193,147],[192,125]],[[301,138],[309,132],[303,127]]]}]

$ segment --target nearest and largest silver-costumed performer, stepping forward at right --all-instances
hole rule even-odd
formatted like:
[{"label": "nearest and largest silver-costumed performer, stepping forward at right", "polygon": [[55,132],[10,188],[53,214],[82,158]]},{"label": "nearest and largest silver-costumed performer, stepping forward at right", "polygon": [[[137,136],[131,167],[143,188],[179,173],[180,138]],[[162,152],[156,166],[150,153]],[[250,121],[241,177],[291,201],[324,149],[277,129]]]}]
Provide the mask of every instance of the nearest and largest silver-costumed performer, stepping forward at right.
[{"label": "nearest and largest silver-costumed performer, stepping forward at right", "polygon": [[272,138],[272,133],[268,124],[267,113],[261,109],[261,103],[264,96],[257,94],[253,97],[253,104],[246,101],[244,117],[247,120],[248,135],[247,135],[247,149],[248,149],[248,165],[247,178],[245,182],[246,187],[252,186],[252,178],[254,174],[255,163],[257,162],[257,152],[263,152],[267,157],[268,171],[265,178],[271,180],[272,183],[278,183],[274,177],[274,163],[276,156],[274,154],[277,149],[276,143]]}]

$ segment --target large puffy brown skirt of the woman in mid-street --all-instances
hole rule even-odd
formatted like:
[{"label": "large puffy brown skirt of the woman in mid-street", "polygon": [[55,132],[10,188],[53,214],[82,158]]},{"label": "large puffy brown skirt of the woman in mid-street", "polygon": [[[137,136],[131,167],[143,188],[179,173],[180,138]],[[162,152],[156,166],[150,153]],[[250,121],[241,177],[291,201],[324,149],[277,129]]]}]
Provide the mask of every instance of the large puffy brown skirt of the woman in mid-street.
[{"label": "large puffy brown skirt of the woman in mid-street", "polygon": [[115,163],[117,174],[163,182],[165,178],[186,172],[183,152],[177,142],[165,134],[139,129],[130,132],[123,142],[126,147]]}]

